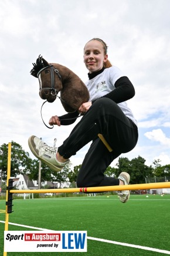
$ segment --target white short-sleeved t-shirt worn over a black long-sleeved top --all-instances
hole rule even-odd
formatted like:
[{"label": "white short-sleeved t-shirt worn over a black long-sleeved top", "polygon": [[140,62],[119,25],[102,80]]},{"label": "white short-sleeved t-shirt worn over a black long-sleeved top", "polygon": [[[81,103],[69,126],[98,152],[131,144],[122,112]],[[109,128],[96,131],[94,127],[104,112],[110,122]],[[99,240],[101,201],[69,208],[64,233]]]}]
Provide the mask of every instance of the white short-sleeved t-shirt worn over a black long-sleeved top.
[{"label": "white short-sleeved t-shirt worn over a black long-sleeved top", "polygon": [[[101,74],[88,80],[85,84],[90,94],[89,101],[94,101],[94,99],[101,98],[109,92],[113,91],[115,89],[115,82],[121,77],[125,77],[124,73],[119,68],[113,66],[104,69]],[[127,102],[124,101],[118,103],[117,105],[124,112],[125,116],[130,118],[135,123],[135,125],[137,125],[137,120],[134,118],[131,109],[127,105]]]}]

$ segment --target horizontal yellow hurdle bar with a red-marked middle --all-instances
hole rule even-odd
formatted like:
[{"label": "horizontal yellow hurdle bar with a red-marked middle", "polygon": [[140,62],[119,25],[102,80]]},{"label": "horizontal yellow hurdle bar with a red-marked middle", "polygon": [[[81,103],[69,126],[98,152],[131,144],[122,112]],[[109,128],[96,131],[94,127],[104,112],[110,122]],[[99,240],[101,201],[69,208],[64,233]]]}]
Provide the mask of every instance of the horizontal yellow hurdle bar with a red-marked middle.
[{"label": "horizontal yellow hurdle bar with a red-marked middle", "polygon": [[134,185],[119,185],[119,186],[106,186],[106,187],[89,187],[89,188],[56,188],[56,189],[12,189],[10,193],[23,194],[23,193],[74,193],[74,192],[106,192],[106,191],[121,191],[121,190],[140,190],[152,188],[170,188],[170,182],[157,182],[147,184],[134,184]]}]

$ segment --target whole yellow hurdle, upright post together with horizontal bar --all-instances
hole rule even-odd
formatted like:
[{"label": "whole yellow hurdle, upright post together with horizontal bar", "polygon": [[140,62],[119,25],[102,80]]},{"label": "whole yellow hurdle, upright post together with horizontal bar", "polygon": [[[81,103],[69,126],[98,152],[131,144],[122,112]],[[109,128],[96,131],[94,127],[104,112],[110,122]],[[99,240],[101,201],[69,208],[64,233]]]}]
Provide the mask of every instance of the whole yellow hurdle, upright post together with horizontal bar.
[{"label": "whole yellow hurdle, upright post together with horizontal bar", "polygon": [[[56,189],[11,189],[13,181],[11,177],[11,142],[8,143],[8,168],[7,168],[7,182],[6,182],[6,210],[5,212],[5,231],[8,231],[9,213],[12,212],[12,195],[13,194],[43,194],[43,193],[74,193],[74,192],[108,192],[108,191],[123,191],[123,190],[140,190],[140,189],[157,189],[157,188],[170,188],[170,182],[155,182],[147,184],[133,184],[133,185],[116,185],[105,187],[84,187],[84,188],[56,188]],[[4,256],[7,252],[4,251]]]}]

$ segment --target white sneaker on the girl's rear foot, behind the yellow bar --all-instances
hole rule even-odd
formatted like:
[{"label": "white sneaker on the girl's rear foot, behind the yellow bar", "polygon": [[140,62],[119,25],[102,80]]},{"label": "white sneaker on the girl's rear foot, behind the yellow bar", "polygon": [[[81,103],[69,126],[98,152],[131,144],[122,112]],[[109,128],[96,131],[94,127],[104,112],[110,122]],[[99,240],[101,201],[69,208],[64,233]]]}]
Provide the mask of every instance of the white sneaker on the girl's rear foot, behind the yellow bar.
[{"label": "white sneaker on the girl's rear foot, behind the yellow bar", "polygon": [[[128,185],[130,182],[130,175],[127,172],[121,172],[118,179],[123,181],[124,185]],[[119,196],[119,200],[123,203],[127,202],[130,198],[129,190],[117,191],[117,194]]]}]

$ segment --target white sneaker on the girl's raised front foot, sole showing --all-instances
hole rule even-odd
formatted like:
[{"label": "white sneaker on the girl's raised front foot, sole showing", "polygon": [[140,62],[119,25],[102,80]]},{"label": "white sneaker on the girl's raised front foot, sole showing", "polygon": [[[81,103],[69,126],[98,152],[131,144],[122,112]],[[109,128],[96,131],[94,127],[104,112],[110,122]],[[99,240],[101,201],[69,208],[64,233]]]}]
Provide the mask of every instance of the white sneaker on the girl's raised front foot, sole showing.
[{"label": "white sneaker on the girl's raised front foot, sole showing", "polygon": [[56,157],[58,148],[48,146],[45,142],[34,135],[29,137],[28,145],[32,154],[54,171],[60,171],[70,161],[68,159],[66,162],[59,162]]}]

